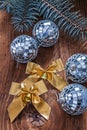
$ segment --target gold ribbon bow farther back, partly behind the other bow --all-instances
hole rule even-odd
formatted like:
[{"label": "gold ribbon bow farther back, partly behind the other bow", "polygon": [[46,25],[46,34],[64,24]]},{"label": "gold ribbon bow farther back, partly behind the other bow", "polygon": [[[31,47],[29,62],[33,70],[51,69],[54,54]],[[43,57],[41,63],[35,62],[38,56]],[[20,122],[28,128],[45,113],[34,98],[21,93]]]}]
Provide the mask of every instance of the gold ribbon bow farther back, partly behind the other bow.
[{"label": "gold ribbon bow farther back, partly behind the other bow", "polygon": [[32,77],[36,79],[47,79],[56,89],[61,91],[66,86],[66,81],[58,75],[58,72],[63,70],[64,66],[61,59],[53,62],[46,70],[38,64],[29,62],[27,64],[26,74],[31,75],[29,80],[32,80]]}]

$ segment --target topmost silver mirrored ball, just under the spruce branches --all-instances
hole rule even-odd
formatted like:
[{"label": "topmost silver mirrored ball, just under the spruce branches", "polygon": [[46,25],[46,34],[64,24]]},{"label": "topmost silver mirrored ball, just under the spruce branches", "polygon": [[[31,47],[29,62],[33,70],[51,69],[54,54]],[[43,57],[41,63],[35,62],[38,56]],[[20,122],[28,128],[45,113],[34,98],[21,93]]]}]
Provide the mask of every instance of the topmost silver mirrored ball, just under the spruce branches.
[{"label": "topmost silver mirrored ball, just under the spruce branches", "polygon": [[59,29],[54,22],[42,20],[34,26],[33,37],[39,42],[39,46],[50,47],[57,43]]}]

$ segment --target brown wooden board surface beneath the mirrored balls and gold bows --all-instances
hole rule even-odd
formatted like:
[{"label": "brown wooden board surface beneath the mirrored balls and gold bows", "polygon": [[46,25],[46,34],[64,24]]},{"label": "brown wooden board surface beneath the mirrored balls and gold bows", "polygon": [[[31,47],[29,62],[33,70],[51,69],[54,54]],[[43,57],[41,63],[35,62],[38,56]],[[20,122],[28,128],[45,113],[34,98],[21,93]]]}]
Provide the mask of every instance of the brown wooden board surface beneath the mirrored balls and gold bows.
[{"label": "brown wooden board surface beneath the mirrored balls and gold bows", "polygon": [[[76,9],[81,10],[83,16],[87,16],[87,0],[76,0],[75,5]],[[35,118],[31,123],[32,119],[29,118],[29,111],[31,112],[31,110],[28,106],[13,124],[10,123],[7,106],[12,101],[12,97],[8,94],[11,82],[21,82],[26,77],[26,65],[20,64],[17,69],[16,62],[11,58],[9,51],[10,43],[18,35],[13,30],[9,15],[0,11],[0,130],[87,130],[87,112],[80,116],[69,116],[62,111],[56,102],[54,94],[56,90],[49,83],[47,83],[49,92],[43,96],[52,107],[49,121],[45,122],[42,127],[36,127],[37,122],[42,125],[44,120],[40,118],[37,121],[38,118]],[[46,67],[51,61],[61,57],[65,65],[69,56],[79,52],[87,53],[87,49],[84,50],[79,43],[71,43],[71,40],[60,36],[54,47],[39,49],[35,62]],[[63,75],[65,76],[65,73]],[[34,118],[34,114],[32,118]]]}]

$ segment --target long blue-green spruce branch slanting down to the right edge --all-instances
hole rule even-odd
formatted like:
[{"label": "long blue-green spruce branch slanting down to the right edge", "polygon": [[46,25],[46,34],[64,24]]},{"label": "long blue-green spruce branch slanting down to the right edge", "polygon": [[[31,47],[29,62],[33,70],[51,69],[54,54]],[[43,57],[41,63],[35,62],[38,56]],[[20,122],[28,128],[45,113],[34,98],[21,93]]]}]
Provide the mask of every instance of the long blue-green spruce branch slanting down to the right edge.
[{"label": "long blue-green spruce branch slanting down to the right edge", "polygon": [[71,37],[87,38],[87,18],[81,17],[79,12],[70,12],[72,8],[69,0],[41,0],[40,13]]}]

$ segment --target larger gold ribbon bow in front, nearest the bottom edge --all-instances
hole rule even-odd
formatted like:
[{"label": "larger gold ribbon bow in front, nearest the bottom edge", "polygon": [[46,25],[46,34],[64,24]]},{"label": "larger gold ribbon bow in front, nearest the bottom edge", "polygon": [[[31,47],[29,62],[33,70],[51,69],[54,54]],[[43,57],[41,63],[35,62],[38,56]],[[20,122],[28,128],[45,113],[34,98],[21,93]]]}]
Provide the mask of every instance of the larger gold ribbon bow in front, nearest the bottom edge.
[{"label": "larger gold ribbon bow in front, nearest the bottom edge", "polygon": [[28,78],[22,83],[13,82],[9,93],[14,95],[15,98],[8,106],[8,113],[11,122],[15,120],[27,103],[32,103],[35,109],[48,120],[51,108],[40,97],[40,95],[47,91],[48,90],[42,80],[34,84],[30,82]]}]

